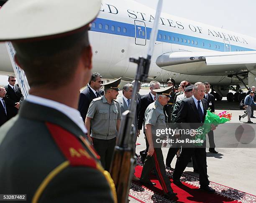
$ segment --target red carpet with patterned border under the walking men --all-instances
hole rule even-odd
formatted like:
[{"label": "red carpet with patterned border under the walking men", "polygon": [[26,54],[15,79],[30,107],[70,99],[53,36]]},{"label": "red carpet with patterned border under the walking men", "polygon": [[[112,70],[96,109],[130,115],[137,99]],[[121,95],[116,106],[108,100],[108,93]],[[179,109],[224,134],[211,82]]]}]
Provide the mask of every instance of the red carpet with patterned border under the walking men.
[{"label": "red carpet with patterned border under the walking men", "polygon": [[[138,160],[139,161],[139,160]],[[142,171],[142,166],[136,166],[136,177],[140,178]],[[171,177],[172,171],[166,170],[168,177]],[[170,178],[171,182],[172,179]],[[256,203],[256,196],[250,195],[248,193],[235,190],[233,188],[228,188],[224,185],[218,183],[210,182],[210,187],[216,190],[215,194],[208,194],[199,190],[199,178],[183,173],[181,178],[182,183],[184,184],[181,187],[178,187],[175,184],[171,184],[172,189],[175,193],[178,193],[177,198],[173,201],[170,201],[164,197],[164,192],[161,188],[159,181],[156,176],[151,176],[151,181],[156,183],[155,186],[146,188],[144,185],[141,185],[139,182],[133,182],[131,185],[131,190],[129,195],[145,203],[167,203],[167,202],[182,202],[182,203],[237,203],[237,202],[246,202],[246,203]]]}]

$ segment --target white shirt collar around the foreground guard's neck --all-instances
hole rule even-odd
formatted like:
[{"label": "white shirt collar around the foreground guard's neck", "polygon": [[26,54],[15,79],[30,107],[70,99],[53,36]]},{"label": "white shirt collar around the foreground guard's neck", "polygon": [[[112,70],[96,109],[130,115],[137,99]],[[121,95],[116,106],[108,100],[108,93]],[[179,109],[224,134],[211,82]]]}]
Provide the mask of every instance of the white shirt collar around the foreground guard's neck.
[{"label": "white shirt collar around the foreground guard's neck", "polygon": [[29,95],[27,101],[34,103],[34,104],[40,104],[45,107],[50,107],[53,109],[56,109],[57,111],[65,114],[67,117],[69,117],[75,124],[77,124],[78,127],[82,129],[84,133],[87,133],[87,129],[84,126],[83,119],[81,117],[80,112],[77,109],[74,109],[72,107],[68,107],[65,104],[61,104],[57,101],[53,101],[50,99],[45,99],[39,96]]}]

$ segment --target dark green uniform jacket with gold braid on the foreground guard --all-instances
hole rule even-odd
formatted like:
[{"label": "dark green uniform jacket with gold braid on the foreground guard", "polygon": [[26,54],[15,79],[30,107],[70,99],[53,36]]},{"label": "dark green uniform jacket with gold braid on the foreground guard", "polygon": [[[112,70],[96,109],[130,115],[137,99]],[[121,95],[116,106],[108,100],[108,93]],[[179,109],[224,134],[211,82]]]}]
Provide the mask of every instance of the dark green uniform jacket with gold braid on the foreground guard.
[{"label": "dark green uniform jacket with gold braid on the foreground guard", "polygon": [[113,180],[83,135],[62,112],[23,101],[0,128],[1,193],[32,203],[114,202]]}]

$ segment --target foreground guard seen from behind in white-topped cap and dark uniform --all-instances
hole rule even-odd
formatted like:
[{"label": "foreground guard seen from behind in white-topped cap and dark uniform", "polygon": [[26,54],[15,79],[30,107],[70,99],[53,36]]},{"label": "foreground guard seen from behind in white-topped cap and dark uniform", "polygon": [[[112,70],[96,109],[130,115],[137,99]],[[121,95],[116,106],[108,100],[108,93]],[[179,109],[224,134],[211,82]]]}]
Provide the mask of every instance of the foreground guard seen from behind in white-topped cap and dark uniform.
[{"label": "foreground guard seen from behind in white-topped cap and dark uniform", "polygon": [[0,41],[12,42],[30,86],[18,115],[0,128],[1,193],[26,194],[31,203],[116,202],[77,111],[92,69],[89,23],[100,5],[8,0],[0,9]]}]

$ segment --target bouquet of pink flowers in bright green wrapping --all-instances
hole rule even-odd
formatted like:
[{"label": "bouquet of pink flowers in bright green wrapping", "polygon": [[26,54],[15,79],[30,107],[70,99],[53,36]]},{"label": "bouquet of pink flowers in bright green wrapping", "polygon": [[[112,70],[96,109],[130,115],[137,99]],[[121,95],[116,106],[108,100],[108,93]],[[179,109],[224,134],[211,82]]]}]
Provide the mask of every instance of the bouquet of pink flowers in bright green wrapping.
[{"label": "bouquet of pink flowers in bright green wrapping", "polygon": [[[211,130],[211,124],[214,124],[215,126],[219,124],[223,124],[225,122],[228,122],[231,120],[232,114],[227,113],[227,111],[221,112],[218,115],[210,112],[210,110],[207,110],[206,116],[205,116],[205,122],[204,124],[198,128],[200,130],[199,132],[202,132],[200,134],[195,135],[195,140],[206,140],[206,134],[210,132]],[[196,146],[202,146],[201,142],[193,143]]]}]

